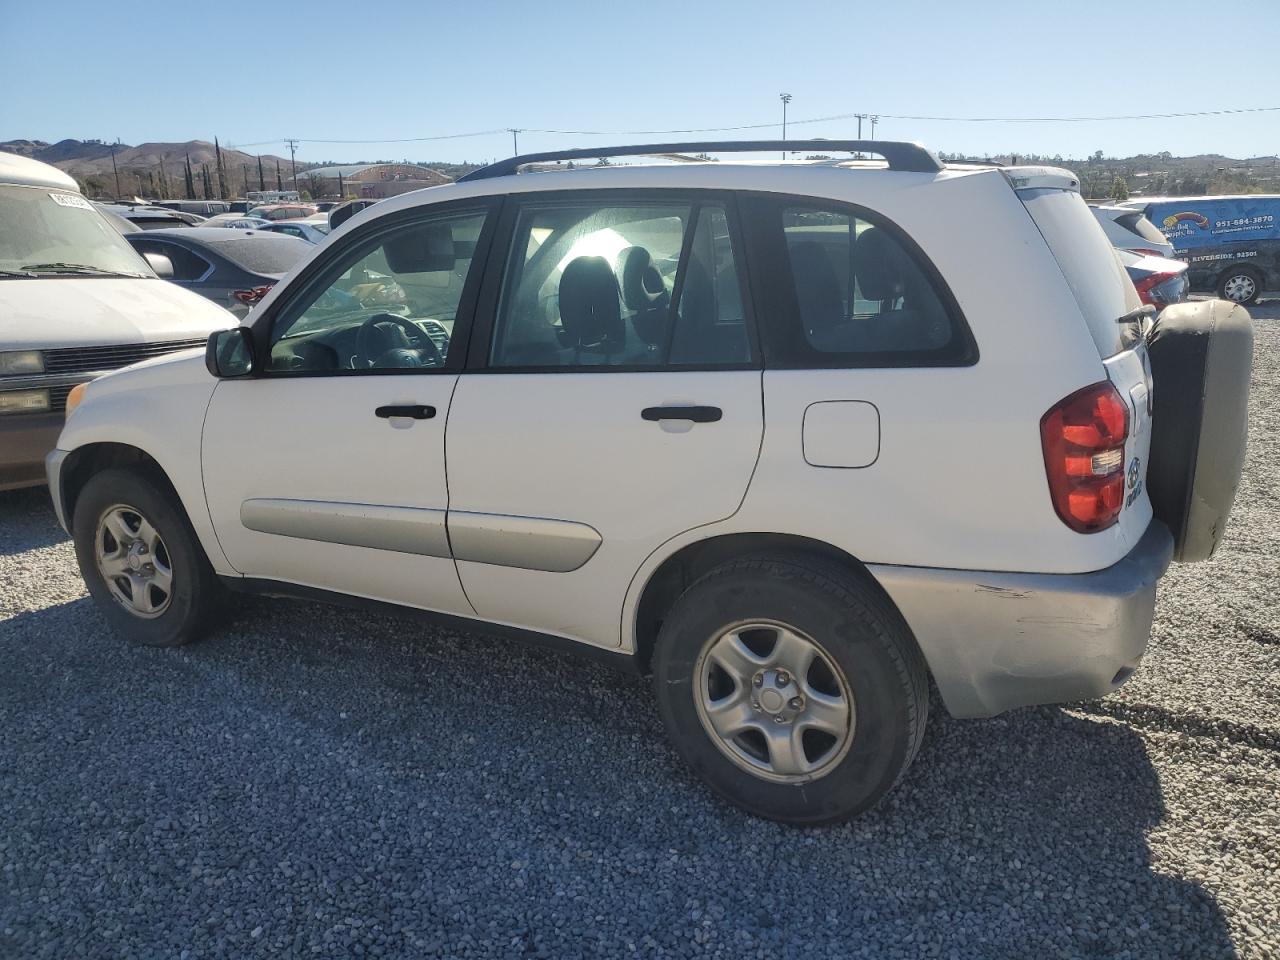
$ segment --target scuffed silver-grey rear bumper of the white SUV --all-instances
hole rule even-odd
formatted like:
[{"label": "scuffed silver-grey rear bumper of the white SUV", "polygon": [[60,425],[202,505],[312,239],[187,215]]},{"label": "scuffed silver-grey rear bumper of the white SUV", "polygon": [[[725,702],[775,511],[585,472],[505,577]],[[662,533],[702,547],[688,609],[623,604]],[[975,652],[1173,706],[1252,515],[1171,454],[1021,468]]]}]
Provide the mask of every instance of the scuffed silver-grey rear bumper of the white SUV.
[{"label": "scuffed silver-grey rear bumper of the white SUV", "polygon": [[1108,694],[1147,649],[1156,581],[1174,541],[1153,521],[1093,573],[988,573],[872,566],[928,660],[954,717]]}]

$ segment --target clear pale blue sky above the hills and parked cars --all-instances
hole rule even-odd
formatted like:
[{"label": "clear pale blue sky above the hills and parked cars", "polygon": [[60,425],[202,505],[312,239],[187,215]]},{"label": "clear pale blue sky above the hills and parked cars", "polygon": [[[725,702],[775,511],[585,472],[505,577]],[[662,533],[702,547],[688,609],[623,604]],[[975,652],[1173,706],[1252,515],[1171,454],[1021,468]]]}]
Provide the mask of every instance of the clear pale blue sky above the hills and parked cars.
[{"label": "clear pale blue sky above the hills and parked cars", "polygon": [[[854,137],[975,155],[1280,152],[1280,0],[0,0],[0,140],[212,140],[300,160],[483,161],[660,140]],[[634,133],[771,124],[699,134]],[[535,129],[577,131],[561,136]],[[454,134],[489,132],[484,136]],[[591,136],[603,132],[607,136]],[[864,123],[864,136],[870,124]],[[422,142],[339,143],[451,137]]]}]

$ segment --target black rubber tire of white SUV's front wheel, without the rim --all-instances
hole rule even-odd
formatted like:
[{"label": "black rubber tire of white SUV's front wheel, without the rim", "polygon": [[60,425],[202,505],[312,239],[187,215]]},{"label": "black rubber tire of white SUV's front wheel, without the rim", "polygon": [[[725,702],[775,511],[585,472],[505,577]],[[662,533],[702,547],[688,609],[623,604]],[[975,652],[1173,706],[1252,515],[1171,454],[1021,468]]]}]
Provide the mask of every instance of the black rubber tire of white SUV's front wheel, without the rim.
[{"label": "black rubber tire of white SUV's front wheel, without the rim", "polygon": [[[154,618],[133,613],[99,568],[99,524],[119,504],[145,517],[165,548],[165,562],[173,573],[172,590]],[[216,626],[225,613],[229,591],[214,573],[182,506],[152,476],[124,468],[95,474],[76,500],[72,536],[90,596],[108,622],[129,640],[147,646],[188,644]]]}]

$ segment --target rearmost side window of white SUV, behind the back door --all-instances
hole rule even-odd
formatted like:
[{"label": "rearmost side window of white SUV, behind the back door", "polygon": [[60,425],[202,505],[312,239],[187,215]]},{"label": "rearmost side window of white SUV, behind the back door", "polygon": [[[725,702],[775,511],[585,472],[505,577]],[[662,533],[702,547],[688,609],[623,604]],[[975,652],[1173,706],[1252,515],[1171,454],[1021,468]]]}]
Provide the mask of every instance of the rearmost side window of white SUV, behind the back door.
[{"label": "rearmost side window of white SUV, behind the back door", "polygon": [[782,367],[954,366],[977,348],[923,253],[860,207],[753,197],[764,285],[765,364]]}]

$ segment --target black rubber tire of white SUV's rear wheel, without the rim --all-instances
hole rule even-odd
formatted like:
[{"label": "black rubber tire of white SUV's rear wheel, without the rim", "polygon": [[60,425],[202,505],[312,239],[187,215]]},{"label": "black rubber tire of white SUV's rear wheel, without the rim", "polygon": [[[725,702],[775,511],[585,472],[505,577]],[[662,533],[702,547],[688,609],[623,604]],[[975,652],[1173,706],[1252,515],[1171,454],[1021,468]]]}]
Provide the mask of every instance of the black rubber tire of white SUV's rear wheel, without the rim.
[{"label": "black rubber tire of white SUV's rear wheel, without the rim", "polygon": [[[695,700],[704,648],[756,621],[806,635],[851,694],[847,751],[804,782],[774,782],[731,760]],[[653,672],[667,732],[694,772],[730,803],[787,823],[831,823],[874,806],[910,767],[928,719],[928,671],[901,616],[874,585],[810,557],[744,558],[708,572],[663,622]]]}]

